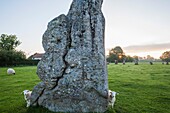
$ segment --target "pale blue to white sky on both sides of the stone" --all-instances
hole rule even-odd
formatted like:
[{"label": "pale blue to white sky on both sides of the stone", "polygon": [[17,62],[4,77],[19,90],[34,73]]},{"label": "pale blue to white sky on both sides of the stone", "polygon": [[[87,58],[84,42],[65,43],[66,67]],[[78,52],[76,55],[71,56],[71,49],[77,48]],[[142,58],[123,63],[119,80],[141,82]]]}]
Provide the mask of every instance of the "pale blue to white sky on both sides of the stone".
[{"label": "pale blue to white sky on both sides of the stone", "polygon": [[[170,0],[103,0],[106,50],[159,58],[170,51]],[[15,34],[27,55],[43,53],[47,24],[67,14],[72,0],[0,0],[0,34]]]}]

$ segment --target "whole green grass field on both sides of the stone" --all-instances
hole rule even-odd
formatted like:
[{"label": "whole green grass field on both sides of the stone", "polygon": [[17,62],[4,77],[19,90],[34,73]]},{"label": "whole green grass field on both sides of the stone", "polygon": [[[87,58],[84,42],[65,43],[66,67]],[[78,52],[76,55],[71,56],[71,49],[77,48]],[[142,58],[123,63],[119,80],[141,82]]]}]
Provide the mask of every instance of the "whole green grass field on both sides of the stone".
[{"label": "whole green grass field on both sides of the stone", "polygon": [[[16,75],[0,68],[0,113],[52,113],[42,107],[26,108],[21,92],[40,82],[36,67],[14,67]],[[114,109],[106,113],[170,113],[170,65],[109,64],[109,88],[119,92]]]}]

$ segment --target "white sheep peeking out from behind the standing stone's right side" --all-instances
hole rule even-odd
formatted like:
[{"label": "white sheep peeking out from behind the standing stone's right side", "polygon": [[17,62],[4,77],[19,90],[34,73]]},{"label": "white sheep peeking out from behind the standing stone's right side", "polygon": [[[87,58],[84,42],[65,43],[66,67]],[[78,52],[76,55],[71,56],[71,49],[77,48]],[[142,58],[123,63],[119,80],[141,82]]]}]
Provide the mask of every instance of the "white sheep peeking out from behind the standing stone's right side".
[{"label": "white sheep peeking out from behind the standing stone's right side", "polygon": [[111,90],[109,90],[108,93],[109,93],[109,105],[111,105],[112,108],[113,108],[114,103],[115,103],[115,101],[116,101],[116,95],[117,95],[118,93],[116,93],[115,91],[111,91]]}]

